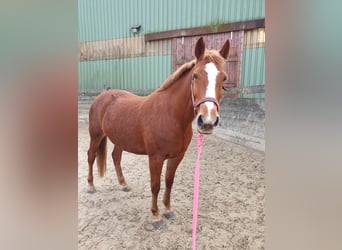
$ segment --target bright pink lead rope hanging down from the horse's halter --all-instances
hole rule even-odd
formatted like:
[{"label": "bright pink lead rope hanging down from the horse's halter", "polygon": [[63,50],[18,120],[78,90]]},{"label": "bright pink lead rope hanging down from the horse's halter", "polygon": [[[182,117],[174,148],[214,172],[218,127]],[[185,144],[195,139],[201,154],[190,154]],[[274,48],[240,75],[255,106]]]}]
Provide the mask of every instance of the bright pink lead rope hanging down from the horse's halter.
[{"label": "bright pink lead rope hanging down from the horse's halter", "polygon": [[197,161],[195,167],[194,177],[194,203],[192,213],[192,250],[196,250],[196,228],[197,228],[197,214],[198,214],[198,193],[199,193],[199,172],[200,172],[200,157],[202,151],[203,135],[197,134]]}]

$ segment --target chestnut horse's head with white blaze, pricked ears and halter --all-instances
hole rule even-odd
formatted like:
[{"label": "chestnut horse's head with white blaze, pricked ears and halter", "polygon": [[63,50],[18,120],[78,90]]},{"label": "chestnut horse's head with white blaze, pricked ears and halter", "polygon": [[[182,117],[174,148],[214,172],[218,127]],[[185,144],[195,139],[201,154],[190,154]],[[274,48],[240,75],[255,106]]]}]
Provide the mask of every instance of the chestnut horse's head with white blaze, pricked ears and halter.
[{"label": "chestnut horse's head with white blaze, pricked ears and halter", "polygon": [[219,123],[219,101],[226,73],[223,66],[228,59],[229,40],[219,51],[206,50],[203,38],[198,39],[194,55],[196,64],[193,69],[191,95],[198,131],[211,134]]}]

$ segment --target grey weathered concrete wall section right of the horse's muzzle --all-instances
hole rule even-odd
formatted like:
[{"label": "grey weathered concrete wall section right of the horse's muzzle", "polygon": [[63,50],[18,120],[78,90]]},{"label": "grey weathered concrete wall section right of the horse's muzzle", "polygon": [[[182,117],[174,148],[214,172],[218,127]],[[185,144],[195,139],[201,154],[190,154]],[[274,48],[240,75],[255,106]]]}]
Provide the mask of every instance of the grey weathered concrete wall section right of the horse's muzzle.
[{"label": "grey weathered concrete wall section right of the horse's muzzle", "polygon": [[265,151],[264,103],[264,99],[222,99],[220,126],[214,133],[238,144]]}]

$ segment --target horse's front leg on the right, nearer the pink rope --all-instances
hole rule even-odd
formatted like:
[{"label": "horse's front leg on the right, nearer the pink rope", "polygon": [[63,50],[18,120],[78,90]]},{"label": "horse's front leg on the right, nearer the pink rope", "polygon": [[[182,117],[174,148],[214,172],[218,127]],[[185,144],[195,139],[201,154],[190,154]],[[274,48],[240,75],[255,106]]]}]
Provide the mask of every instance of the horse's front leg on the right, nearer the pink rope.
[{"label": "horse's front leg on the right, nearer the pink rope", "polygon": [[176,158],[169,159],[167,161],[166,174],[165,174],[165,193],[163,203],[165,205],[165,213],[163,214],[166,219],[174,219],[175,213],[171,209],[170,197],[171,189],[173,185],[173,180],[175,178],[175,173],[179,163],[182,161],[184,153]]}]

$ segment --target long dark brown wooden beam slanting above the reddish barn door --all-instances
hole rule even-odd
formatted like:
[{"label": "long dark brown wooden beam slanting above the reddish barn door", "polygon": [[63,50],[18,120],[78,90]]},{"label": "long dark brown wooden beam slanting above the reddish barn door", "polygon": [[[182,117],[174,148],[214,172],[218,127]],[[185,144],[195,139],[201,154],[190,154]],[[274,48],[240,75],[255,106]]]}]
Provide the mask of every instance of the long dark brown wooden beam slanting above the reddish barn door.
[{"label": "long dark brown wooden beam slanting above the reddish barn door", "polygon": [[197,28],[187,28],[170,30],[156,33],[145,34],[145,41],[164,40],[177,37],[188,37],[188,36],[199,36],[199,35],[210,35],[217,33],[233,32],[239,30],[251,30],[256,28],[264,28],[265,19],[258,19],[252,21],[242,21],[236,23],[220,24],[215,26],[204,26]]}]

